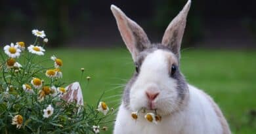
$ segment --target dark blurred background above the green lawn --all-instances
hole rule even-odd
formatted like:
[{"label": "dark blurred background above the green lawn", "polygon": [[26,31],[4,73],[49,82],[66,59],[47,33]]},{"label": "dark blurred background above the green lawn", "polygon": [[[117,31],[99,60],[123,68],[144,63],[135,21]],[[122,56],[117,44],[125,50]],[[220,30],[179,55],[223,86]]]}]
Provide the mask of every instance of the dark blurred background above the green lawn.
[{"label": "dark blurred background above the green lawn", "polygon": [[[31,29],[45,30],[49,46],[119,46],[121,37],[110,5],[141,25],[152,42],[186,0],[1,0],[0,44],[32,41]],[[188,14],[183,47],[255,48],[256,1],[194,0]],[[29,43],[29,42],[28,42]]]}]

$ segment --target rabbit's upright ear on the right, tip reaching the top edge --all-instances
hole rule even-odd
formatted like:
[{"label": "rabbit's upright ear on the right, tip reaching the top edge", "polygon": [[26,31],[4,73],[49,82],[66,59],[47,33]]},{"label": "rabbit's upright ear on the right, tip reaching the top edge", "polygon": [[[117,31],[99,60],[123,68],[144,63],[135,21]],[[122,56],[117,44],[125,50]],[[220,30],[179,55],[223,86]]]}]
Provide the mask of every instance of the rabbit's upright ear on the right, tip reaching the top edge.
[{"label": "rabbit's upright ear on the right, tip reaching the top edge", "polygon": [[180,48],[184,29],[186,27],[186,16],[190,8],[191,1],[188,0],[181,12],[168,25],[161,43],[171,48],[174,54],[180,58]]}]

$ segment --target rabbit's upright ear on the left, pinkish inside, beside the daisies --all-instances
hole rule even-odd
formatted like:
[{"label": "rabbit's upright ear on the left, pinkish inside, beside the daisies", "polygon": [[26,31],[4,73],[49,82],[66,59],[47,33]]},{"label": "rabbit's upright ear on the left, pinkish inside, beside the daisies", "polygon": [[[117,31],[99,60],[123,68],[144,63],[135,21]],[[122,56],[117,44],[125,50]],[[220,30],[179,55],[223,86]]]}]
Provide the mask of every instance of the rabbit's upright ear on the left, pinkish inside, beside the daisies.
[{"label": "rabbit's upright ear on the left, pinkish inside, beside the daisies", "polygon": [[139,52],[150,46],[150,41],[143,29],[128,18],[118,7],[111,5],[111,10],[116,18],[121,37],[131,52],[133,60],[135,60]]}]

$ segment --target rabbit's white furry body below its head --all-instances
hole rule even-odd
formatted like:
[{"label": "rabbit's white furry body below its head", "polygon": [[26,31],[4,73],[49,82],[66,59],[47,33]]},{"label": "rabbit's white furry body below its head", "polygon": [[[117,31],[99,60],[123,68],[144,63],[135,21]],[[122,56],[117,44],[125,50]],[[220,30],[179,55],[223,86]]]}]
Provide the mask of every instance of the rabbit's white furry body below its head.
[{"label": "rabbit's white furry body below its head", "polygon": [[221,134],[223,129],[211,102],[202,91],[189,86],[188,106],[174,114],[162,116],[157,125],[147,122],[139,114],[137,121],[131,118],[130,110],[123,104],[117,113],[114,134]]}]

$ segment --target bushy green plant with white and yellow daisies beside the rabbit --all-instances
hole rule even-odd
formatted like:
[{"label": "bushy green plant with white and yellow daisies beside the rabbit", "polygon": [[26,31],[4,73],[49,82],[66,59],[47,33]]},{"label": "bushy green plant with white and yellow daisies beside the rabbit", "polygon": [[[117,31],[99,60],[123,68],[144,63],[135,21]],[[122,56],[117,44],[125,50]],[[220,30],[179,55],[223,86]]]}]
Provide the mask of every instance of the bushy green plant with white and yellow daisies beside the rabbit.
[{"label": "bushy green plant with white and yellow daisies beside the rabbit", "polygon": [[83,99],[67,101],[72,87],[63,87],[62,60],[52,56],[53,67],[40,65],[48,39],[44,31],[35,29],[32,33],[36,39],[28,50],[24,42],[16,42],[4,46],[4,53],[0,51],[0,133],[106,130],[104,125],[112,122],[106,119],[113,111],[109,112],[103,101],[98,101],[97,107],[83,105]]}]

